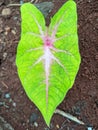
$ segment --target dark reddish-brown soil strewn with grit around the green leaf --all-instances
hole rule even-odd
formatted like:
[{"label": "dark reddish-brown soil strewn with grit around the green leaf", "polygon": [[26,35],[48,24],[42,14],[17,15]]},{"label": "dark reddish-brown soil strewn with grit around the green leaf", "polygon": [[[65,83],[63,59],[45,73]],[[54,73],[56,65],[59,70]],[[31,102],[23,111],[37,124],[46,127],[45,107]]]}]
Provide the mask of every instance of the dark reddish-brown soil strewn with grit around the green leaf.
[{"label": "dark reddish-brown soil strewn with grit around the green leaf", "polygon": [[[50,17],[65,1],[52,1],[54,8],[47,17],[47,25]],[[9,3],[19,3],[19,0],[1,0],[0,12]],[[87,126],[98,130],[98,1],[76,0],[76,3],[82,61],[72,89],[58,108],[76,116],[86,125],[79,125],[54,114],[51,130],[86,130]],[[0,116],[15,130],[50,130],[39,110],[26,96],[18,78],[15,55],[20,39],[20,11],[17,6],[8,8],[11,10],[9,16],[0,14]],[[32,113],[38,116],[35,123],[30,123]]]}]

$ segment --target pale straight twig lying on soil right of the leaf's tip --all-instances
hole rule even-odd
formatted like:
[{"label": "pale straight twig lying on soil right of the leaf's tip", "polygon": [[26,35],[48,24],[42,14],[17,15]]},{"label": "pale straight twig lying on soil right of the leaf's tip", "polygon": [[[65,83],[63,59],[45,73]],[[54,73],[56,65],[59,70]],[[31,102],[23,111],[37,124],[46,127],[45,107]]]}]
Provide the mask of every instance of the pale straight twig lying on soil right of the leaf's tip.
[{"label": "pale straight twig lying on soil right of the leaf's tip", "polygon": [[59,109],[56,109],[55,113],[60,114],[61,116],[64,116],[64,117],[66,117],[74,122],[81,124],[81,125],[85,125],[85,123],[83,121],[80,121],[79,119],[77,119],[77,117],[74,117],[74,116],[70,115],[69,113],[65,113],[64,111],[61,111]]}]

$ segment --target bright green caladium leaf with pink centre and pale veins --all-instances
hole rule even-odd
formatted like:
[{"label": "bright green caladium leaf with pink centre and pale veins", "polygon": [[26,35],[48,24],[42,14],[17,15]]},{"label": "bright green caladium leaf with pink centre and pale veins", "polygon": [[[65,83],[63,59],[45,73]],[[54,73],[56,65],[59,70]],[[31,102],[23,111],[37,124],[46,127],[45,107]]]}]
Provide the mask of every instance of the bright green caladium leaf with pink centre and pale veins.
[{"label": "bright green caladium leaf with pink centre and pale veins", "polygon": [[80,65],[77,10],[66,2],[45,26],[43,14],[32,4],[21,7],[22,33],[16,65],[26,94],[47,125],[72,87]]}]

